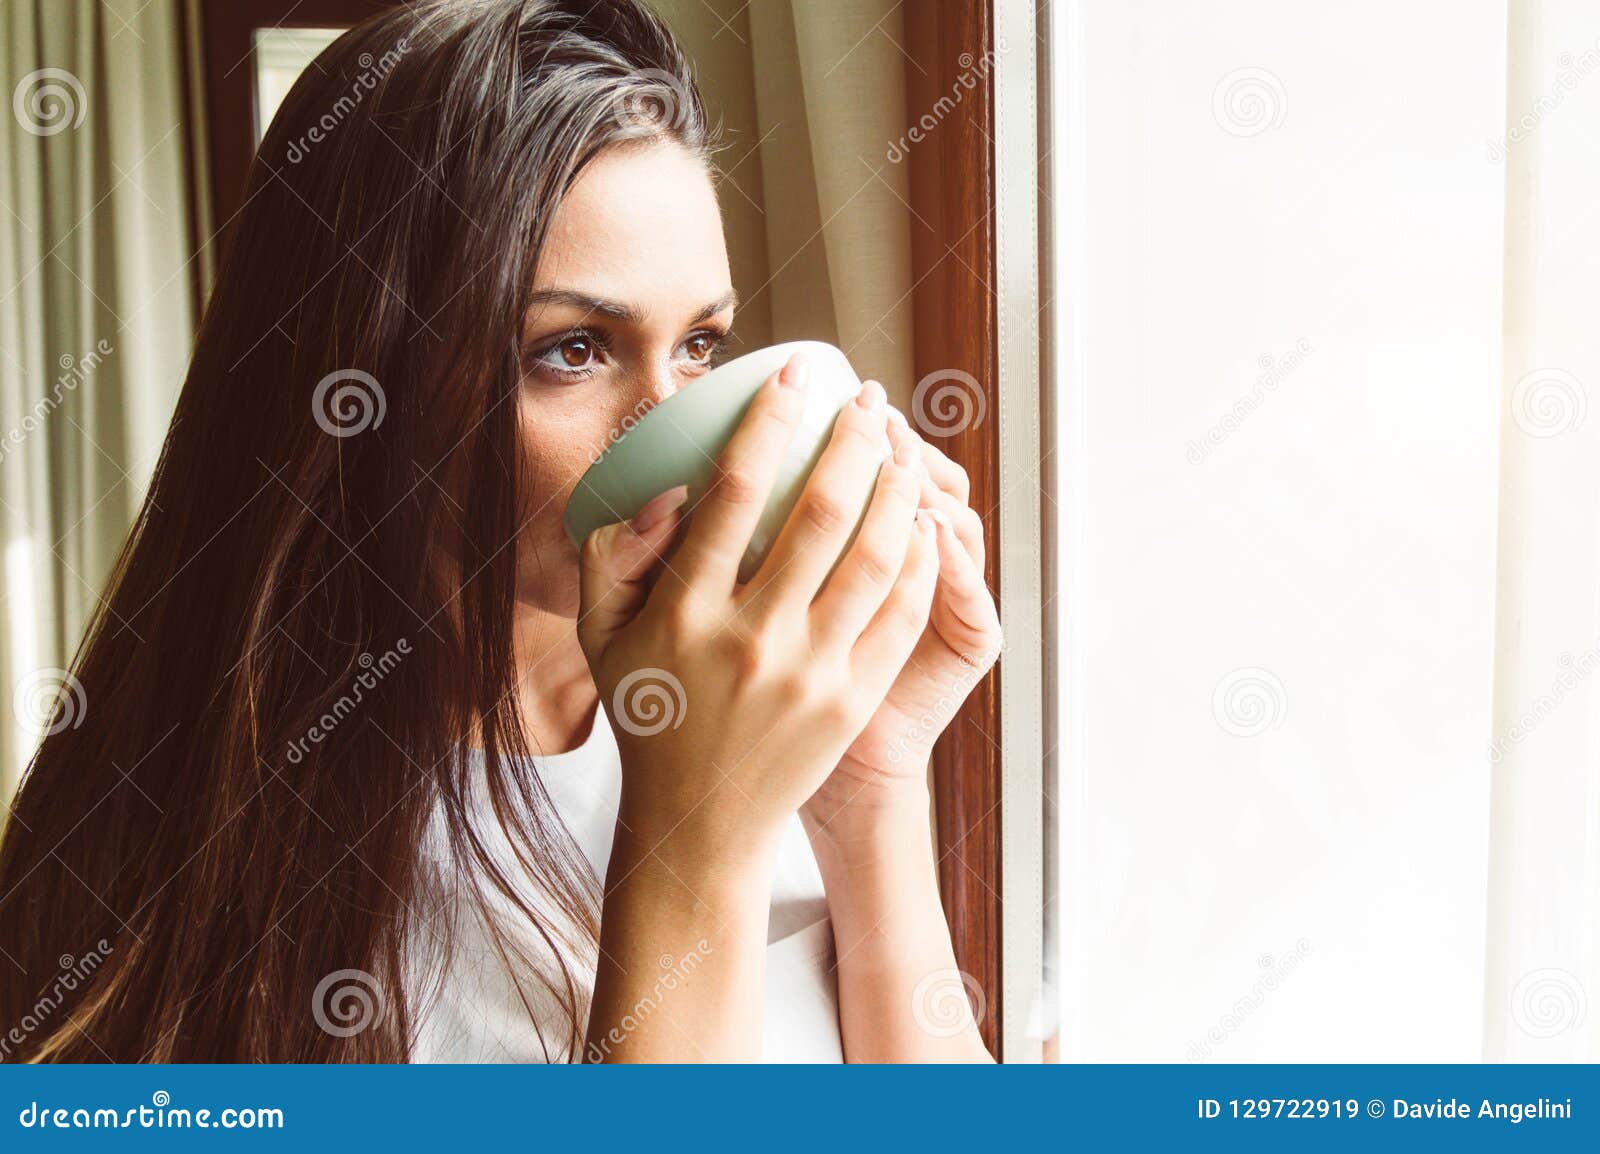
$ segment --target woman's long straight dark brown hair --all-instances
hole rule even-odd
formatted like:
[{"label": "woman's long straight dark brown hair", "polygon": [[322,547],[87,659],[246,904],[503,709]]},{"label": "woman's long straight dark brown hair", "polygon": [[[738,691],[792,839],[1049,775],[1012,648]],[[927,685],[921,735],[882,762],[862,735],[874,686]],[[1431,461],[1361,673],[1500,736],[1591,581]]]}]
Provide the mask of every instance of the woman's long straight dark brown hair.
[{"label": "woman's long straight dark brown hair", "polygon": [[[440,826],[578,1052],[584,981],[526,956],[592,940],[598,892],[515,707],[520,336],[574,176],[662,136],[702,152],[704,115],[635,0],[402,6],[294,85],[0,843],[0,1060],[405,1060]],[[326,1005],[347,972],[382,1008],[358,1032]]]}]

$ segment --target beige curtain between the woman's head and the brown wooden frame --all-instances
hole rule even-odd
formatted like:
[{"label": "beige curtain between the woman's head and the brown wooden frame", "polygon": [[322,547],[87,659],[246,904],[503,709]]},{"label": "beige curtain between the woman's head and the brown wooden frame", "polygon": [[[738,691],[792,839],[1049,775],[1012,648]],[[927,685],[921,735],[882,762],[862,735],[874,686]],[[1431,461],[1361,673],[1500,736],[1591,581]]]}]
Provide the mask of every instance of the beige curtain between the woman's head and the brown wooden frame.
[{"label": "beige curtain between the woman's head and the brown wooden frame", "polygon": [[742,347],[838,344],[910,399],[904,5],[658,0],[723,128],[720,197]]}]

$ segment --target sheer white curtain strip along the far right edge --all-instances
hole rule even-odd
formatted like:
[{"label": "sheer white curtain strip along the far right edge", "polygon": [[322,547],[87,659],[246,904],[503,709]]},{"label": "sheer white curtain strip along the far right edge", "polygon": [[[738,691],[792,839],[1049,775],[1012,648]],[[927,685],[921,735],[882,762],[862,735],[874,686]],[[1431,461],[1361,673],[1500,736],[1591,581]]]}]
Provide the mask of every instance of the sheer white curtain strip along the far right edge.
[{"label": "sheer white curtain strip along the far right edge", "polygon": [[1515,0],[1485,1056],[1600,1060],[1600,8]]}]

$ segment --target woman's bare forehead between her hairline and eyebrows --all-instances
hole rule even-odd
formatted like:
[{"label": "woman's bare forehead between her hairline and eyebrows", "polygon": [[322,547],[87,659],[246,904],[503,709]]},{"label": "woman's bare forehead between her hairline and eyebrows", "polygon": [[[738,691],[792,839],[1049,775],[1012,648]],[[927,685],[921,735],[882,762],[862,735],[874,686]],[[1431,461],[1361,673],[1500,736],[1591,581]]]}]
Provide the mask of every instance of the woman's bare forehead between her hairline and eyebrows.
[{"label": "woman's bare forehead between her hairline and eyebrows", "polygon": [[610,149],[550,221],[534,288],[637,304],[650,317],[722,296],[731,283],[706,163],[677,144]]}]

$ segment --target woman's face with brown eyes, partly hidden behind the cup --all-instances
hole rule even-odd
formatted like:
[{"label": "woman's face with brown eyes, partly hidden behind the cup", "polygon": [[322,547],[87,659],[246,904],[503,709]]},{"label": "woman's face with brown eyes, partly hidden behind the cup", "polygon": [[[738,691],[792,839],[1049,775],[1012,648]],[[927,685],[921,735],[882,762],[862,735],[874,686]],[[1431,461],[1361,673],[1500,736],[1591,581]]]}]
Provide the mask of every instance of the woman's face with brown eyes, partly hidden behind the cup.
[{"label": "woman's face with brown eyes, partly hidden behind the cup", "polygon": [[624,421],[707,371],[733,309],[706,165],[677,144],[597,157],[550,222],[523,322],[518,600],[578,616],[566,498]]}]

